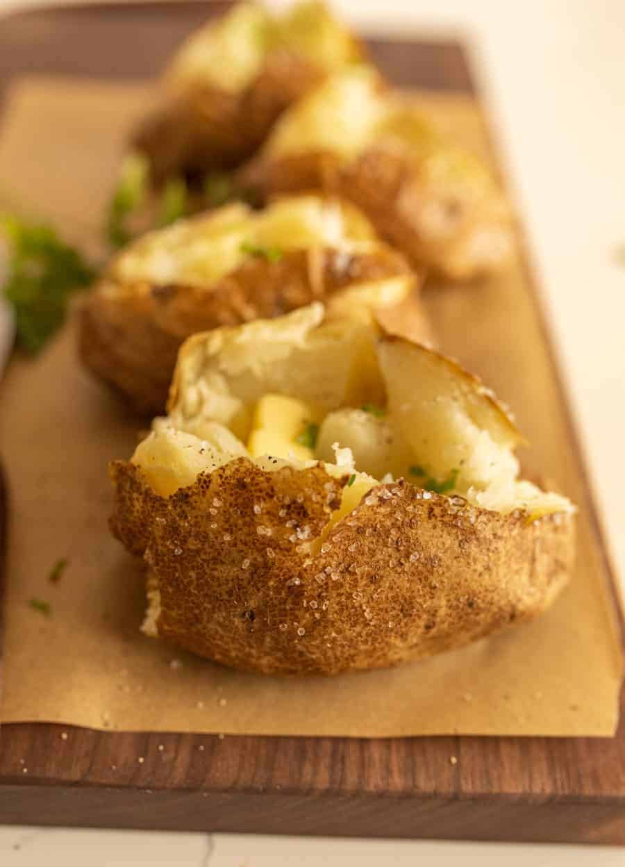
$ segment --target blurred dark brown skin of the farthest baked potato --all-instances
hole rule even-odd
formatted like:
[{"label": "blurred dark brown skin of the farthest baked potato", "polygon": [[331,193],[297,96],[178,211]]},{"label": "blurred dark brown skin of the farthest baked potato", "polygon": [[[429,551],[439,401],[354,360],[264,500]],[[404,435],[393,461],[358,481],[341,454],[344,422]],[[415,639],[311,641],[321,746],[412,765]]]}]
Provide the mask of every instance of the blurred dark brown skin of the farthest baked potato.
[{"label": "blurred dark brown skin of the farthest baked potato", "polygon": [[157,185],[176,173],[201,179],[231,169],[249,159],[283,110],[323,77],[306,58],[273,51],[241,93],[202,84],[166,98],[137,129],[133,148],[149,158]]}]

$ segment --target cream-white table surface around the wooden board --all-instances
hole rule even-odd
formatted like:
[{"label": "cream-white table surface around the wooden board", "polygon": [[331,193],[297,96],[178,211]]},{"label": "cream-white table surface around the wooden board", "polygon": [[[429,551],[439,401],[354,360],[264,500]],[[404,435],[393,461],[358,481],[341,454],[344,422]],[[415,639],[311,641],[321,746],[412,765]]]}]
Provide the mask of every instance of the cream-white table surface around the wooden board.
[{"label": "cream-white table surface around the wooden board", "polygon": [[[0,14],[46,0],[0,0]],[[284,5],[284,3],[272,3]],[[616,572],[625,576],[625,3],[334,0],[365,32],[461,36],[498,129]],[[0,26],[2,24],[0,23]],[[620,191],[620,192],[619,192]],[[589,303],[590,302],[590,303]],[[618,457],[617,457],[618,455]],[[622,588],[625,583],[622,580]],[[570,846],[0,828],[3,867],[280,864],[602,867]]]}]

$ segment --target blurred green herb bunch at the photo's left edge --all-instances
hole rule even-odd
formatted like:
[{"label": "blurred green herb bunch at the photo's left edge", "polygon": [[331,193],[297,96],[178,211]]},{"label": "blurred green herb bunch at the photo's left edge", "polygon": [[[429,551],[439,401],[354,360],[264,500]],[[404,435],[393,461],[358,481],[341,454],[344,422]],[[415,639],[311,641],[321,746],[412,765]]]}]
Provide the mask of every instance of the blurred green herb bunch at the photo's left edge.
[{"label": "blurred green herb bunch at the photo's left edge", "polygon": [[62,324],[69,298],[91,283],[94,271],[49,225],[0,217],[0,232],[9,242],[4,294],[15,310],[17,339],[35,353]]}]

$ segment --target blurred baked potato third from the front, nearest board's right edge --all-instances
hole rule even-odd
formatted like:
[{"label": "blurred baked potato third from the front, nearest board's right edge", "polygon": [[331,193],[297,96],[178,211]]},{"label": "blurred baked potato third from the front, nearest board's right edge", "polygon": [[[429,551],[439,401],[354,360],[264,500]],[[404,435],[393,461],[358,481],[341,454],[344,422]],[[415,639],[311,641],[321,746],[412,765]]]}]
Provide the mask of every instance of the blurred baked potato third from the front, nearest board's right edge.
[{"label": "blurred baked potato third from the front, nearest board's right edge", "polygon": [[286,111],[238,186],[259,200],[339,193],[413,265],[454,280],[497,270],[513,246],[509,208],[487,168],[364,64]]}]

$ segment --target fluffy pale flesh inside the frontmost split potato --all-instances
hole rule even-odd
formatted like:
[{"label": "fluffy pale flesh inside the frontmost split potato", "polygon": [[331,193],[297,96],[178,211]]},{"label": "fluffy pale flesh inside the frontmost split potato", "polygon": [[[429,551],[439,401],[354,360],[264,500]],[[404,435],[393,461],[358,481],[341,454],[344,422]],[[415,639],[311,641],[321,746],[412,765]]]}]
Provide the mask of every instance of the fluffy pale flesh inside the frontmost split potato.
[{"label": "fluffy pale flesh inside the frontmost split potato", "polygon": [[[374,323],[324,321],[322,305],[313,304],[275,320],[194,336],[179,357],[168,423],[205,432],[203,426],[217,422],[239,438],[234,457],[244,453],[240,440],[246,441],[250,432],[257,401],[268,395],[297,401],[297,412],[279,410],[286,421],[276,418],[275,423],[267,408],[271,401],[261,404],[270,448],[292,466],[310,466],[310,460],[296,460],[290,440],[301,407],[314,407],[320,423],[314,457],[329,473],[349,479],[338,516],[379,481],[400,476],[418,486],[461,494],[485,509],[524,509],[531,519],[573,511],[566,498],[518,479],[513,450],[520,434],[481,381],[426,347],[381,336]],[[365,404],[382,407],[384,414],[363,411]],[[275,405],[283,406],[280,401]],[[280,426],[287,422],[284,448],[277,440],[285,439]],[[214,445],[216,440],[207,437],[207,442]],[[217,445],[224,447],[224,440]],[[192,448],[186,451],[184,457],[173,456],[173,466],[190,484],[204,465]],[[309,452],[303,457],[308,459]],[[180,468],[176,460],[186,466]],[[216,459],[211,455],[210,460]],[[227,460],[223,451],[218,460]],[[266,458],[254,460],[260,466]],[[167,461],[171,463],[169,456],[159,466]]]}]

